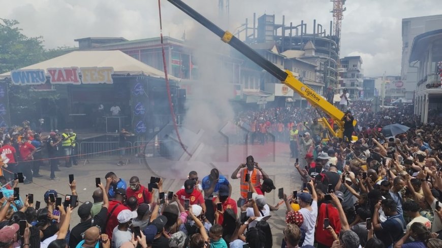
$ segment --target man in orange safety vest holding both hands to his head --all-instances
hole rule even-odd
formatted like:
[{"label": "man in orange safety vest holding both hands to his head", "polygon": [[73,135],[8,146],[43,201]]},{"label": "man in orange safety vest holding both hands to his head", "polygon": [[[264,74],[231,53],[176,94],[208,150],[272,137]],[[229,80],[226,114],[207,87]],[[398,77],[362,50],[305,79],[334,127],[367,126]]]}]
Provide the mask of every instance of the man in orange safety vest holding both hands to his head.
[{"label": "man in orange safety vest holding both hands to his head", "polygon": [[[247,167],[247,168],[245,168]],[[252,156],[248,156],[246,158],[245,164],[240,164],[235,171],[233,171],[231,178],[232,179],[240,179],[240,190],[241,196],[238,200],[238,207],[241,207],[247,202],[247,192],[251,191],[249,189],[249,185],[245,182],[245,175],[249,174],[250,183],[252,187],[256,188],[261,185],[261,179],[267,179],[269,176],[263,169],[255,162],[255,159]]]}]

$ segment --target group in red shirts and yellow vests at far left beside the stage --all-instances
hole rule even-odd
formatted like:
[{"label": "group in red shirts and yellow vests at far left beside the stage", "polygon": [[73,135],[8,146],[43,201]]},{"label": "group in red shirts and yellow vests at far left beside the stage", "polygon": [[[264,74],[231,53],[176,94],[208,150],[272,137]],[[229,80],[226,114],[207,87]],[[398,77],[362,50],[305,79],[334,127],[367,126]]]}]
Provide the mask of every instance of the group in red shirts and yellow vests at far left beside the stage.
[{"label": "group in red shirts and yellow vests at far left beside the stage", "polygon": [[44,161],[49,161],[51,181],[59,181],[55,176],[60,171],[59,165],[66,167],[78,165],[77,134],[73,129],[64,131],[51,130],[49,135],[35,132],[30,129],[29,122],[23,126],[0,129],[0,154],[6,155],[7,163],[0,166],[0,176],[7,181],[14,178],[17,172],[23,172],[24,184],[33,182],[33,178],[40,178],[40,167]]}]

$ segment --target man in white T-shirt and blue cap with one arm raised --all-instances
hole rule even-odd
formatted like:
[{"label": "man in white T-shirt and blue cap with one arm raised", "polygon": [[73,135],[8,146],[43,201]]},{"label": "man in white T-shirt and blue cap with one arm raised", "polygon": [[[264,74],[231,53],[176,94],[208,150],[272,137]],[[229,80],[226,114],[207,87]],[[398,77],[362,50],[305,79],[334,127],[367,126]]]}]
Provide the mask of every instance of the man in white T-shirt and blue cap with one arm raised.
[{"label": "man in white T-shirt and blue cap with one arm raised", "polygon": [[298,194],[299,212],[304,217],[304,223],[301,228],[305,230],[305,239],[302,245],[313,245],[314,242],[314,229],[316,225],[316,219],[318,218],[318,196],[314,190],[313,181],[308,182],[311,188],[311,194],[302,192]]}]

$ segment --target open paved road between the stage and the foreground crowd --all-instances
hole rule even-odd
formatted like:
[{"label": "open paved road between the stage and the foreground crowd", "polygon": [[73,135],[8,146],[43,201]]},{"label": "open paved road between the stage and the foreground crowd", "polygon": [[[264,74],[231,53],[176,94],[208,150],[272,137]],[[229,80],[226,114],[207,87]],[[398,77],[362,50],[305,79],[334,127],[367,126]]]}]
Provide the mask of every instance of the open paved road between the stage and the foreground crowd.
[{"label": "open paved road between the stage and the foreground crowd", "polygon": [[[226,175],[230,179],[230,174],[235,168],[245,161],[245,157],[249,154],[253,155],[260,166],[269,174],[270,178],[274,181],[276,188],[284,188],[285,192],[292,192],[293,190],[299,190],[302,185],[300,176],[295,170],[293,163],[294,159],[289,157],[288,144],[285,143],[272,143],[253,146],[230,146],[229,149],[220,149],[222,151],[228,150],[228,156],[224,156],[223,159],[219,159],[220,155],[217,154],[215,158],[218,162],[206,161],[204,155],[196,158],[196,161],[177,162],[162,158],[150,158],[147,161],[140,161],[139,159],[132,158],[131,163],[127,166],[117,166],[116,160],[91,160],[85,165],[81,164],[66,168],[60,166],[61,171],[56,175],[60,178],[59,182],[49,181],[49,166],[43,166],[41,174],[42,178],[35,178],[34,184],[22,185],[20,184],[20,193],[22,195],[27,193],[33,193],[35,200],[43,200],[43,194],[47,189],[55,189],[61,194],[70,193],[68,174],[74,174],[77,181],[77,193],[79,195],[79,201],[91,201],[92,192],[95,188],[95,178],[102,178],[104,182],[104,176],[107,172],[113,171],[120,178],[125,181],[129,181],[131,176],[137,175],[140,181],[147,185],[147,181],[151,175],[159,175],[164,178],[164,189],[173,190],[176,192],[183,185],[186,176],[189,171],[196,170],[199,172],[199,178],[202,178],[209,173],[209,171],[216,167],[220,172]],[[221,160],[221,162],[219,162]],[[233,192],[232,198],[238,199],[239,197],[239,180],[230,180]],[[275,205],[279,200],[277,199],[277,190],[272,191],[270,194],[266,194],[266,199],[269,204]],[[269,223],[273,232],[274,247],[280,246],[282,240],[282,230],[285,227],[285,205],[281,206],[278,211],[272,212],[272,218]],[[71,224],[79,222],[77,211],[74,210],[74,216]]]}]

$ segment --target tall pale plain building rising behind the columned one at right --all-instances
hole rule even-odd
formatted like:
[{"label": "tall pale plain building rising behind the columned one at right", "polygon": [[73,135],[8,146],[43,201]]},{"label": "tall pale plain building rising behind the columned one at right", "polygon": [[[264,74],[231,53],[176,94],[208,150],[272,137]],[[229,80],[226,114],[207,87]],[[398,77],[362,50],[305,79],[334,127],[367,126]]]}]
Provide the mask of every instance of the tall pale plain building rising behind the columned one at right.
[{"label": "tall pale plain building rising behind the columned one at right", "polygon": [[[442,27],[442,15],[422,16],[402,19],[402,63],[401,80],[404,92],[400,97],[414,99],[416,84],[419,82],[418,67],[415,61],[409,61],[412,53],[412,45],[415,37],[419,34],[440,29]],[[397,88],[399,90],[399,88]]]}]

